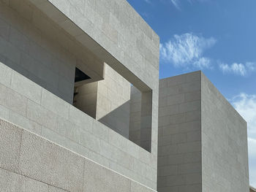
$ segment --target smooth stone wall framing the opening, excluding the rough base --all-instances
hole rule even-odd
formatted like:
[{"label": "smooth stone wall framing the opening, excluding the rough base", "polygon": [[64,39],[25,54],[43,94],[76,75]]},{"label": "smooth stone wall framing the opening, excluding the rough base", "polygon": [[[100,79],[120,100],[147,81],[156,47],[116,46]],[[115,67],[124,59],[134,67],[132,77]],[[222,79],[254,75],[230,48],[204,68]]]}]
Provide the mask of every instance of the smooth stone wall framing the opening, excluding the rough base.
[{"label": "smooth stone wall framing the opening, excluding the rough base", "polygon": [[[77,2],[1,1],[0,15],[4,20],[1,28],[4,29],[1,30],[0,55],[4,73],[0,76],[0,114],[156,189],[159,38],[127,1],[80,1],[84,6]],[[10,27],[22,34],[16,41],[13,41],[15,36],[9,37]],[[31,62],[20,62],[20,54],[27,50],[20,50],[27,45],[23,36],[29,39],[29,46],[34,46],[29,47],[32,52],[27,53],[29,59],[33,59]],[[22,43],[15,45],[16,42]],[[92,45],[96,45],[96,49]],[[92,49],[88,50],[89,47]],[[45,66],[41,64],[48,59],[48,54],[51,59],[57,59],[56,69],[48,60]],[[153,91],[151,153],[70,105],[73,84],[66,85],[69,80],[61,80],[62,76],[69,79],[69,74],[63,74],[62,70],[71,73],[79,66],[94,80],[102,80],[103,61],[140,91]],[[66,62],[72,64],[72,69],[67,67],[66,71]],[[34,68],[30,69],[31,66]],[[58,85],[53,86],[56,80]]]}]

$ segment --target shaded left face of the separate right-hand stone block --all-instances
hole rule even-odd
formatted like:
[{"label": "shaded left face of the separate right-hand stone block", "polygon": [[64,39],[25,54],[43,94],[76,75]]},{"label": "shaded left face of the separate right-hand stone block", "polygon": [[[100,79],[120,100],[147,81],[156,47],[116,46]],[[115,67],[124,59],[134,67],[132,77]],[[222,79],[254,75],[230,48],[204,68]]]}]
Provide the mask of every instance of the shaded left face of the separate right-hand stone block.
[{"label": "shaded left face of the separate right-hand stone block", "polygon": [[159,81],[159,192],[201,191],[200,72]]}]

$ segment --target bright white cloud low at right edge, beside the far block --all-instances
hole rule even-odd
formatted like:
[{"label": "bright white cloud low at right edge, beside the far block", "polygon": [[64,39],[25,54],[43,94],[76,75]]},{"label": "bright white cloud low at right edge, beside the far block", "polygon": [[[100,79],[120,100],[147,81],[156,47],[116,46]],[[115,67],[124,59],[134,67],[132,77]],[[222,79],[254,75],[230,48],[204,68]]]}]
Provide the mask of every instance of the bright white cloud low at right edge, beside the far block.
[{"label": "bright white cloud low at right edge, beside the far block", "polygon": [[250,184],[256,187],[256,95],[241,93],[231,100],[248,126],[248,153]]}]

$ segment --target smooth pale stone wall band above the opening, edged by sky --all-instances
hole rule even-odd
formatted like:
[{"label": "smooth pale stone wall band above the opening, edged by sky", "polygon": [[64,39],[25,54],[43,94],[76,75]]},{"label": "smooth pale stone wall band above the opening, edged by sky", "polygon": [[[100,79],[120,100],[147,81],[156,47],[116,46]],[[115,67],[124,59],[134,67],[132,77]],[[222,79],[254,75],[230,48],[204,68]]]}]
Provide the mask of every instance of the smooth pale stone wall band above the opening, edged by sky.
[{"label": "smooth pale stone wall band above the opening, edged by sky", "polygon": [[159,37],[126,0],[29,1],[113,69],[127,68],[157,88]]}]

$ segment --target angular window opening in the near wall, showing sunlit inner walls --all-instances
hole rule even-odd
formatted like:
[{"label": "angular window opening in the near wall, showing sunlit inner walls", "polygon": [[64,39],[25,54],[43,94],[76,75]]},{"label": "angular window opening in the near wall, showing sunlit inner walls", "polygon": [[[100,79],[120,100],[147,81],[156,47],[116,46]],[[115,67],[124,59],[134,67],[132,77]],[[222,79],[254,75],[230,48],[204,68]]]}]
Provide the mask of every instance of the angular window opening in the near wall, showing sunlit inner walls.
[{"label": "angular window opening in the near wall, showing sunlit inner walls", "polygon": [[76,68],[73,105],[151,152],[152,91],[141,92],[107,64],[104,80],[89,80]]}]

